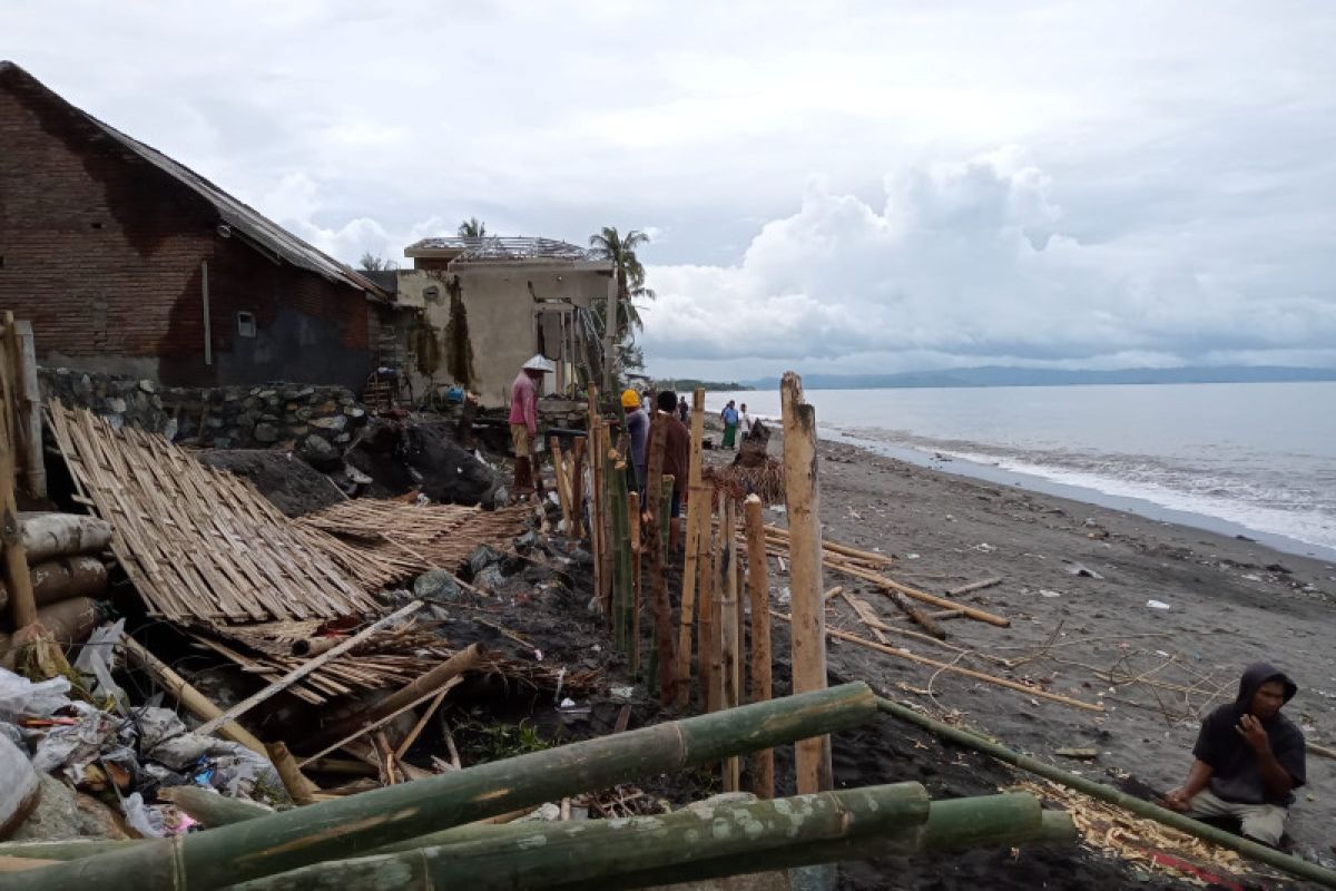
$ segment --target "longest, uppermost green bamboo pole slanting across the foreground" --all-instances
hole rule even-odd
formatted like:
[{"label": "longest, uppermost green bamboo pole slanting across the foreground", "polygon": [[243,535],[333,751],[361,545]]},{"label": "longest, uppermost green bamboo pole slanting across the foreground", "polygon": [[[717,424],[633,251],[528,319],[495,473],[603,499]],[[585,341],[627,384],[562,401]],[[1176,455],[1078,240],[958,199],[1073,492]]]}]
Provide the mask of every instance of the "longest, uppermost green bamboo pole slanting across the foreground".
[{"label": "longest, uppermost green bamboo pole slanting across the foreground", "polygon": [[589,789],[683,769],[863,724],[876,697],[844,684],[727,712],[480,764],[453,773],[321,801],[106,856],[7,878],[7,891],[56,887],[210,891]]}]

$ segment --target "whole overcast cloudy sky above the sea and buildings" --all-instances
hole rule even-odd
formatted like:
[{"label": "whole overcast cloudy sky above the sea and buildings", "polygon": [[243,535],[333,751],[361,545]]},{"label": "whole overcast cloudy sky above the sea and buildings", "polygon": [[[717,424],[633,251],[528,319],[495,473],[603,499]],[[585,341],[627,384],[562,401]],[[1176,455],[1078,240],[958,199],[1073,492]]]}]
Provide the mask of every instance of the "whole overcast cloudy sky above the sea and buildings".
[{"label": "whole overcast cloudy sky above the sea and buildings", "polygon": [[331,254],[643,228],[651,370],[1336,366],[1336,4],[4,3]]}]

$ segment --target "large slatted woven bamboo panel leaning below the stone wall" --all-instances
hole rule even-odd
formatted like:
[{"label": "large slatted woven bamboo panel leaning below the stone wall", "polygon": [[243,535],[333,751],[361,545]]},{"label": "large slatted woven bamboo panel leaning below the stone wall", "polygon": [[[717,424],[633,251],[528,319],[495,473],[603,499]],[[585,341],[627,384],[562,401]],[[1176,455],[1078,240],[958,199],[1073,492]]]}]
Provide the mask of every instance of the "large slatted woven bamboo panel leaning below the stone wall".
[{"label": "large slatted woven bamboo panel leaning below the stone wall", "polygon": [[112,552],[152,613],[255,622],[379,612],[333,558],[337,542],[297,532],[250,482],[83,409],[55,402],[49,417],[83,501],[111,524]]}]

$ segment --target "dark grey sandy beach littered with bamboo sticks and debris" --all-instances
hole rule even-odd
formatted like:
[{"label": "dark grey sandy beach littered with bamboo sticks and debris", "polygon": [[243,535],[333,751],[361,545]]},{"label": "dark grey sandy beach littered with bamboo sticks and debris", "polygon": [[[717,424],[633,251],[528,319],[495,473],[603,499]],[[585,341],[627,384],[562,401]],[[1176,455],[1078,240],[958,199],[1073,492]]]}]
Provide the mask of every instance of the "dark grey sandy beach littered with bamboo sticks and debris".
[{"label": "dark grey sandy beach littered with bamboo sticks and debris", "polygon": [[[770,453],[780,454],[779,437]],[[1156,522],[1105,508],[999,488],[908,465],[852,446],[820,446],[826,537],[895,554],[888,574],[945,592],[989,577],[994,586],[958,600],[1010,620],[998,628],[943,621],[945,645],[887,633],[890,645],[942,663],[1033,685],[1092,705],[1083,711],[831,640],[830,677],[866,680],[879,692],[959,721],[1010,747],[1108,783],[1134,777],[1154,789],[1182,781],[1200,717],[1232,700],[1250,661],[1283,667],[1300,687],[1288,704],[1311,743],[1336,741],[1336,566],[1256,542]],[[727,464],[731,452],[705,452]],[[783,525],[779,510],[767,518]],[[772,566],[772,596],[787,576]],[[888,625],[914,629],[875,586],[830,569]],[[1160,606],[1149,605],[1152,601]],[[854,608],[834,597],[827,627],[871,639]],[[776,659],[787,633],[779,622]],[[884,632],[883,632],[884,633]],[[787,683],[787,669],[776,667]],[[1055,755],[1094,748],[1094,760]],[[836,780],[919,779],[934,796],[1014,783],[1015,773],[970,752],[943,748],[890,720],[836,740]],[[1288,831],[1296,852],[1331,864],[1336,836],[1336,761],[1308,756]],[[894,870],[907,887],[1121,887],[1132,872],[1090,854],[974,852],[934,864],[867,863],[843,871],[846,887],[884,887]],[[1065,874],[1059,882],[1059,874]],[[954,878],[953,878],[954,876]],[[1140,876],[1145,882],[1145,876]],[[1164,880],[1162,876],[1156,882]],[[879,884],[879,882],[882,884]],[[1051,884],[1053,882],[1059,882]],[[1173,887],[1173,886],[1170,886]]]}]

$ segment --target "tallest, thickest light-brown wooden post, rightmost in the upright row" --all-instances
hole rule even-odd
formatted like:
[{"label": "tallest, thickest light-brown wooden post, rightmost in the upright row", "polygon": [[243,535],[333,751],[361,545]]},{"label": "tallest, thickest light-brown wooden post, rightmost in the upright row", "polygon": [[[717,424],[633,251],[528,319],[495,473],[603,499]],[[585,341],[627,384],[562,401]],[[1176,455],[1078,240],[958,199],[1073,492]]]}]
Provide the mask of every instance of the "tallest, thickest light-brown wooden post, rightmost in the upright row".
[{"label": "tallest, thickest light-brown wooden post, rightmost in the upright row", "polygon": [[[790,592],[792,597],[794,692],[826,688],[826,604],[822,592],[822,526],[818,513],[816,410],[803,401],[803,379],[786,371],[780,382],[784,418],[784,504],[788,510]],[[795,744],[798,791],[832,788],[831,740]]]}]

